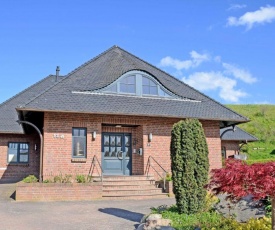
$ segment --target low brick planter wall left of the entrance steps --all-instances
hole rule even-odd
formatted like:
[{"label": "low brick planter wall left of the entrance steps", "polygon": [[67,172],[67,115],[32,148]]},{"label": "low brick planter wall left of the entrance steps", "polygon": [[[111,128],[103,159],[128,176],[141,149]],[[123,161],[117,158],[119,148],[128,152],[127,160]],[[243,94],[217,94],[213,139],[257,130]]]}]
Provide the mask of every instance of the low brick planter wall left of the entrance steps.
[{"label": "low brick planter wall left of the entrance steps", "polygon": [[16,187],[16,201],[80,201],[102,198],[102,183],[23,183]]}]

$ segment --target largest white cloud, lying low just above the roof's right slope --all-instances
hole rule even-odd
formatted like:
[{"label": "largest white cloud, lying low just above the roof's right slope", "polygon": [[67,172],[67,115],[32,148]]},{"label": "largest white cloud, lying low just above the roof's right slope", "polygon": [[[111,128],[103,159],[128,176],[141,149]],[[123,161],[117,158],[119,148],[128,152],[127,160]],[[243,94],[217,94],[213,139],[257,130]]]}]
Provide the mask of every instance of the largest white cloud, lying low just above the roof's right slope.
[{"label": "largest white cloud, lying low just above the roof's right slope", "polygon": [[221,72],[196,72],[182,81],[202,91],[219,90],[219,96],[230,102],[238,102],[241,97],[247,96],[245,92],[235,89],[236,80]]}]

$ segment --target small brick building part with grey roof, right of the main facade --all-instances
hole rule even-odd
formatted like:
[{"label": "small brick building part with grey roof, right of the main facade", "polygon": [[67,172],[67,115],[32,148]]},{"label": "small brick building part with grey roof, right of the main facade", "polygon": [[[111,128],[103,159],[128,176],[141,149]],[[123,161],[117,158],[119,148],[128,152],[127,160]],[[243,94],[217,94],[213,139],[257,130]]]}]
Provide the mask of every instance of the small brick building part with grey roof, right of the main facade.
[{"label": "small brick building part with grey roof, right of the main facade", "polygon": [[225,127],[220,130],[221,143],[222,143],[222,156],[223,158],[233,157],[239,155],[240,149],[248,142],[258,141],[250,133],[245,132],[238,126],[231,128]]}]

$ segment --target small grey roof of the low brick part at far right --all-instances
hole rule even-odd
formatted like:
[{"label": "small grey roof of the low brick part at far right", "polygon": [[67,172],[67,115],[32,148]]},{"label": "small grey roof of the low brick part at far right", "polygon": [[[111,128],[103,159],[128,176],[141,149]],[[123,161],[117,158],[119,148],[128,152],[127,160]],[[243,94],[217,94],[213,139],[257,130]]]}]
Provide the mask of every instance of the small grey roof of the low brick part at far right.
[{"label": "small grey roof of the low brick part at far right", "polygon": [[226,130],[230,130],[225,132],[224,135],[222,136],[221,139],[223,141],[248,141],[248,142],[258,141],[258,138],[252,136],[251,134],[245,132],[244,130],[242,130],[237,126],[235,126],[234,132],[231,129],[232,127],[220,129],[220,135],[222,135],[222,133],[225,132]]}]

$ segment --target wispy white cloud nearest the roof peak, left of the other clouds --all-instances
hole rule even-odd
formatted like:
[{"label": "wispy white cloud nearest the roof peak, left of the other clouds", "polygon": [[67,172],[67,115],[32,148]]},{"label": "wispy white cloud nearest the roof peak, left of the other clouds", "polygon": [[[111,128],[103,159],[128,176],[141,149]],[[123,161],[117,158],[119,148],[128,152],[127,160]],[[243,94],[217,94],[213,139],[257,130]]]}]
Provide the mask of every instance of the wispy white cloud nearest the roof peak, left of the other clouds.
[{"label": "wispy white cloud nearest the roof peak, left of the other clouds", "polygon": [[182,69],[195,68],[199,66],[202,62],[210,60],[210,57],[208,54],[199,54],[194,50],[190,52],[190,56],[191,56],[190,60],[184,60],[184,61],[167,56],[161,59],[160,66],[173,67],[177,70],[182,70]]}]

